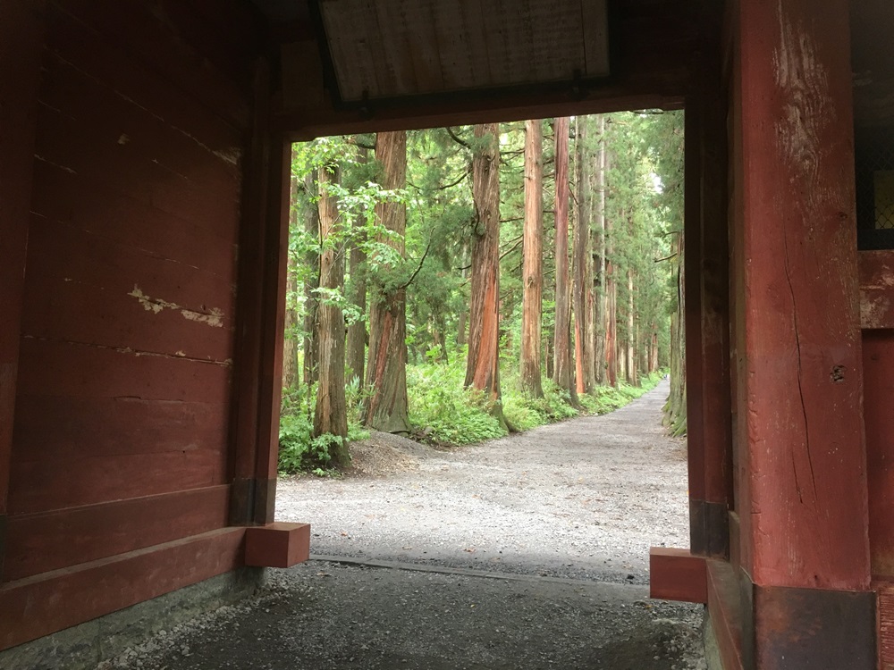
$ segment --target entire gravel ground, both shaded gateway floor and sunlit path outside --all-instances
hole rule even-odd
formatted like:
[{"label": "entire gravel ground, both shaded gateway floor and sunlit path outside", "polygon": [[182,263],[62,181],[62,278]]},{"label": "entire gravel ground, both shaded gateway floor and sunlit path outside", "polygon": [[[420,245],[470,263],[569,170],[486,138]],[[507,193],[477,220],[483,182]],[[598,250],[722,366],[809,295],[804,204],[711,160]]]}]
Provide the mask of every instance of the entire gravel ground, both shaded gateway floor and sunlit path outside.
[{"label": "entire gravel ground, both shaded gateway floor and sunlit path outside", "polygon": [[374,436],[366,474],[280,484],[316,559],[101,668],[702,669],[702,608],[631,583],[650,545],[687,544],[666,394],[451,452]]}]

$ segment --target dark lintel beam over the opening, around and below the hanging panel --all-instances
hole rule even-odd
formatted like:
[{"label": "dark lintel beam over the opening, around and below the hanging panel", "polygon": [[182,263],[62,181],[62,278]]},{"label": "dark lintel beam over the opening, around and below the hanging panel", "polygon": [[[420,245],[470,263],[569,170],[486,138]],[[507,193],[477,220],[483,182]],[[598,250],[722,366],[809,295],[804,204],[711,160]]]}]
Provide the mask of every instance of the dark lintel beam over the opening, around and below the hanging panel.
[{"label": "dark lintel beam over the opening, around and below the hanging panel", "polygon": [[299,29],[277,31],[291,37],[282,45],[283,78],[274,108],[274,128],[298,141],[357,132],[681,108],[690,87],[690,54],[699,48],[702,37],[696,4],[616,5],[610,35],[611,77],[607,80],[581,84],[571,79],[569,72],[568,81],[555,84],[507,87],[507,81],[494,81],[493,88],[486,91],[408,96],[352,106],[333,105],[330,89],[335,89],[336,83],[332,72],[326,72],[325,79],[317,76],[326,68],[313,35],[307,30],[300,35]]}]

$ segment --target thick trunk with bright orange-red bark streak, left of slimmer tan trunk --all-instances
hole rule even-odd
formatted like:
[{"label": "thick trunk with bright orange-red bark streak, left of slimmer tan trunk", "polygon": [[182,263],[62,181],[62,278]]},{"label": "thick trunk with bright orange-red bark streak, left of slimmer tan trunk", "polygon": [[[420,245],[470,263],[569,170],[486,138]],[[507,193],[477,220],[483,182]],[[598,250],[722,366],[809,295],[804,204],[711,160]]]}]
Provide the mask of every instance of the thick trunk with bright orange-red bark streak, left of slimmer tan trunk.
[{"label": "thick trunk with bright orange-red bark streak, left of slimmer tan trunk", "polygon": [[505,424],[500,396],[500,143],[496,123],[475,126],[472,155],[472,282],[466,386],[485,392]]}]

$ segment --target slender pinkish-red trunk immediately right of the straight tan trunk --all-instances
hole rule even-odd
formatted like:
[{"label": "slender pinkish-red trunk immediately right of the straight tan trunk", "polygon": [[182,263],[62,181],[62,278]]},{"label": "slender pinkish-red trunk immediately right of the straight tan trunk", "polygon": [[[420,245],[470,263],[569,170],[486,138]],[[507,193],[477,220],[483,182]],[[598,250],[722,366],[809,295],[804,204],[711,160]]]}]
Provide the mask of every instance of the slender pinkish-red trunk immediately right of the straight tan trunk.
[{"label": "slender pinkish-red trunk immediately right of the straight tan trunk", "polygon": [[567,389],[572,402],[577,404],[577,389],[571,369],[571,291],[568,264],[568,135],[569,118],[555,120],[555,255],[556,255],[556,321],[552,381],[561,389]]}]

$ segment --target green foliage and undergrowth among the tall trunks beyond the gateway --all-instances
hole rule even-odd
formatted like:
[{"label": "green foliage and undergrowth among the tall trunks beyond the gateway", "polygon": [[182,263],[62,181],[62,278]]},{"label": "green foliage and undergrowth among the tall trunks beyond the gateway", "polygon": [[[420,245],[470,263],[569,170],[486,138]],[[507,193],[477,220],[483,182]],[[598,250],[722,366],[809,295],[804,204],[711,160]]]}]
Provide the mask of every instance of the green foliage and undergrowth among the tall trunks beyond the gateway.
[{"label": "green foliage and undergrowth among the tall trunks beyond the gateway", "polygon": [[[581,176],[589,190],[574,190],[575,217],[588,217],[593,254],[611,264],[617,289],[619,342],[633,341],[641,350],[654,337],[661,365],[669,362],[670,315],[677,309],[677,262],[674,252],[682,229],[682,123],[679,113],[617,113],[604,117],[604,132],[596,117],[578,117],[572,124],[571,174]],[[554,330],[554,221],[555,189],[552,121],[544,120],[544,293],[543,338]],[[481,394],[463,389],[466,351],[458,346],[460,323],[468,314],[470,250],[475,221],[471,197],[471,155],[477,142],[471,126],[414,130],[408,133],[406,188],[388,190],[379,183],[381,166],[371,149],[375,136],[322,138],[296,145],[292,175],[294,210],[289,245],[287,338],[308,333],[304,316],[313,303],[338,306],[346,322],[364,322],[367,314],[355,304],[354,286],[366,283],[367,305],[395,289],[405,289],[409,418],[424,439],[460,445],[501,437],[504,429],[491,415]],[[623,383],[617,389],[598,387],[578,397],[572,406],[567,391],[546,378],[544,398],[528,398],[519,389],[518,366],[521,329],[522,230],[524,206],[524,123],[500,127],[500,357],[502,413],[510,430],[524,431],[544,423],[586,414],[602,414],[626,405],[660,375],[641,379],[642,388]],[[600,148],[606,148],[610,170],[605,188],[606,232],[598,224],[595,170]],[[580,165],[578,165],[580,163]],[[578,172],[578,167],[587,166]],[[321,169],[338,169],[341,180],[326,188],[338,198],[340,219],[326,239],[314,231]],[[578,177],[574,177],[578,179]],[[588,180],[588,181],[587,181]],[[572,187],[573,189],[575,187]],[[578,195],[580,196],[578,198]],[[384,230],[375,205],[401,202],[407,207],[407,229],[402,240]],[[576,206],[577,204],[577,206]],[[396,249],[402,242],[405,258]],[[364,259],[350,268],[345,289],[319,289],[314,283],[315,255],[326,248],[348,254],[357,248]],[[633,278],[629,293],[628,277]],[[605,278],[593,278],[596,302],[603,297]],[[315,288],[316,287],[316,288]],[[633,310],[633,332],[628,316]],[[312,319],[310,320],[312,321]],[[603,323],[596,324],[602,331]],[[637,365],[641,364],[637,360]],[[642,371],[640,371],[642,372]],[[359,380],[348,388],[349,440],[357,439]],[[310,438],[315,389],[287,389],[283,397],[280,469],[283,472],[328,472],[333,436]],[[683,415],[685,426],[685,411]]]}]

